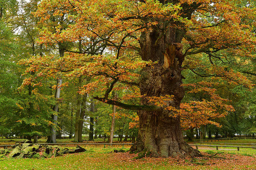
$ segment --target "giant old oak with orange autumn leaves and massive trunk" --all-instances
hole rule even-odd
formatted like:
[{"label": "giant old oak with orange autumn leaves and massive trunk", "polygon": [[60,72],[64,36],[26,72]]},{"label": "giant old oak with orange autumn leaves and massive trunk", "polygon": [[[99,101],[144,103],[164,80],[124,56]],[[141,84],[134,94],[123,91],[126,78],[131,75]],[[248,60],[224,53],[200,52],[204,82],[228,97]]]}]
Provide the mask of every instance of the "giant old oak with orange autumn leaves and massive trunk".
[{"label": "giant old oak with orange autumn leaves and massive trunk", "polygon": [[[213,95],[214,91],[209,101],[187,103],[180,109],[184,96],[182,79],[185,78],[182,70],[190,69],[198,75],[207,70],[206,76],[214,77],[214,81],[224,79],[251,88],[250,81],[238,71],[212,62],[213,59],[224,61],[227,56],[233,56],[235,60],[241,56],[253,57],[256,15],[254,4],[249,2],[43,0],[35,14],[44,22],[52,15],[52,9],[55,9],[53,15],[56,16],[65,13],[71,24],[65,30],[59,25],[56,28],[62,31],[55,34],[43,31],[42,42],[81,40],[82,45],[87,46],[94,38],[97,43],[104,44],[102,55],[88,52],[90,49],[70,51],[58,60],[61,63],[58,70],[71,71],[67,74],[69,77],[97,77],[98,80],[85,85],[81,93],[99,91],[102,94],[95,99],[138,111],[139,136],[131,150],[149,150],[153,156],[164,157],[198,156],[200,153],[183,140],[180,115],[195,111],[195,108],[187,109],[192,105],[198,105],[197,109],[200,109],[200,105],[214,104],[215,111],[232,111],[226,105],[228,101]],[[68,11],[72,13],[69,15]],[[202,54],[209,60],[199,62]],[[205,62],[211,66],[204,65]],[[122,88],[120,83],[126,89],[132,85],[139,87],[140,105],[111,99],[109,94]],[[207,83],[201,83],[204,84]]]}]

